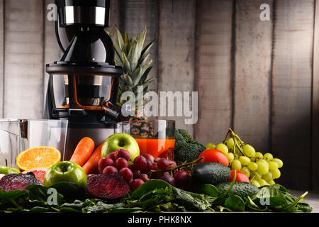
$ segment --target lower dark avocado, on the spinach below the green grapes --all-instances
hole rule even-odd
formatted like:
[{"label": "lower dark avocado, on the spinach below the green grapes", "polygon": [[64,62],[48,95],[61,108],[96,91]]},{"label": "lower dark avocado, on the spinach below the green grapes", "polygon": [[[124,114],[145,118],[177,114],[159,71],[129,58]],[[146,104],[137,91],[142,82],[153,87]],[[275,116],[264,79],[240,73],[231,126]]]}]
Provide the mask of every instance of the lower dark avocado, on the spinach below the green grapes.
[{"label": "lower dark avocado, on the spinach below the green grapes", "polygon": [[[230,187],[230,184],[232,184],[232,182],[217,184],[216,187],[218,189],[218,194],[225,193]],[[259,188],[254,186],[254,184],[250,184],[249,182],[235,182],[232,189],[230,189],[228,196],[237,195],[243,198],[245,196],[252,196],[258,192]]]}]

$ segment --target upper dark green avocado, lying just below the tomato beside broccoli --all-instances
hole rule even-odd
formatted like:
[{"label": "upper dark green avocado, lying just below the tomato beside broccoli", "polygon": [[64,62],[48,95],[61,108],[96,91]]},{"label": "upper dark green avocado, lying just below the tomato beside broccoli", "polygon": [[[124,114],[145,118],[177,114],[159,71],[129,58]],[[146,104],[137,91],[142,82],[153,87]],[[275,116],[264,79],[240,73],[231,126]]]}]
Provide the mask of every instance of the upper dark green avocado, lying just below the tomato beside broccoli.
[{"label": "upper dark green avocado, lying just below the tomato beside broccoli", "polygon": [[191,177],[200,184],[219,184],[230,179],[230,168],[221,163],[201,162],[194,166]]}]

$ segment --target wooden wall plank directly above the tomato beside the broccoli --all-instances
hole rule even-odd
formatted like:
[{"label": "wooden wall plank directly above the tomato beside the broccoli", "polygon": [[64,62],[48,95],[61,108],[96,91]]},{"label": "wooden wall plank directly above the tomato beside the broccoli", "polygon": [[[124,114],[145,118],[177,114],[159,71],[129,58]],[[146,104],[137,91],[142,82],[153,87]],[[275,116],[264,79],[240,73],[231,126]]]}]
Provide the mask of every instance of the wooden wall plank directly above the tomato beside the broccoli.
[{"label": "wooden wall plank directly above the tomato beside the broccoli", "polygon": [[196,140],[221,143],[232,123],[233,1],[197,1]]}]

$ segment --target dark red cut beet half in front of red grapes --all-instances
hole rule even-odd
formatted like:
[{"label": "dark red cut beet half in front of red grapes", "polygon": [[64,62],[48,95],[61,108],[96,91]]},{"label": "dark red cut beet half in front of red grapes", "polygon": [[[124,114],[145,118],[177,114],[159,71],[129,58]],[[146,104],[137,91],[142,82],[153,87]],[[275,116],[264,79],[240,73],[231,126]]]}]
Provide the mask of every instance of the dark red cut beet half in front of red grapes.
[{"label": "dark red cut beet half in front of red grapes", "polygon": [[118,173],[96,175],[86,182],[89,193],[100,199],[117,199],[128,194],[130,186]]}]

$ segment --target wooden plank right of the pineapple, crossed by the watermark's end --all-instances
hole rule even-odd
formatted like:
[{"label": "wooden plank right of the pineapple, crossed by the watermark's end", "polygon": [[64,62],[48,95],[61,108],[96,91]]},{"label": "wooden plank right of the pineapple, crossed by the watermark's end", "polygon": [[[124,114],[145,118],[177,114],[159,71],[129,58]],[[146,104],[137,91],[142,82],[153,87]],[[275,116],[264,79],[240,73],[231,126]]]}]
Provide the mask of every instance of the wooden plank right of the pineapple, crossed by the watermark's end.
[{"label": "wooden plank right of the pineapple, crossed by the watermark's end", "polygon": [[[158,92],[194,91],[196,1],[159,0],[159,9]],[[183,118],[168,118],[194,134]]]}]

